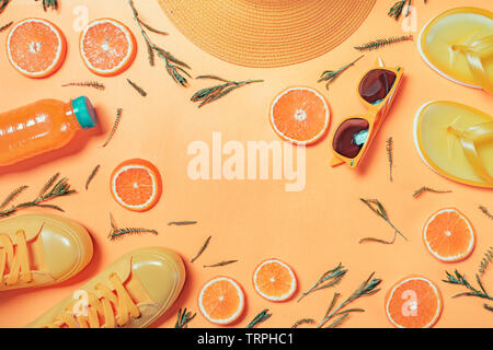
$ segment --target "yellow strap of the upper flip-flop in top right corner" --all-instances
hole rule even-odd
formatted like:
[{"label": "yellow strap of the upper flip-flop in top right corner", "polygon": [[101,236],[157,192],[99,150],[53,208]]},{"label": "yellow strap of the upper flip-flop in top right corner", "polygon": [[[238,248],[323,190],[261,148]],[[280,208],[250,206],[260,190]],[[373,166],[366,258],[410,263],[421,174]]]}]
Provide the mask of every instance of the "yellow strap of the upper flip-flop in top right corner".
[{"label": "yellow strap of the upper flip-flop in top right corner", "polygon": [[466,54],[472,75],[478,85],[493,93],[493,83],[484,70],[482,60],[493,56],[493,35],[483,37],[472,45],[455,45],[455,49]]}]

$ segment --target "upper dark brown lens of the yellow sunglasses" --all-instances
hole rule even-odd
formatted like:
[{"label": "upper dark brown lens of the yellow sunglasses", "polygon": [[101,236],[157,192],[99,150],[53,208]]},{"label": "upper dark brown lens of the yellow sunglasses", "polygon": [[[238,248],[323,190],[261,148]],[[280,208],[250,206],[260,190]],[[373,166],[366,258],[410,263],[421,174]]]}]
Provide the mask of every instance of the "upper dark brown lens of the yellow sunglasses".
[{"label": "upper dark brown lens of the yellow sunglasses", "polygon": [[359,84],[359,95],[368,103],[377,105],[387,97],[397,75],[386,69],[374,69],[363,78]]}]

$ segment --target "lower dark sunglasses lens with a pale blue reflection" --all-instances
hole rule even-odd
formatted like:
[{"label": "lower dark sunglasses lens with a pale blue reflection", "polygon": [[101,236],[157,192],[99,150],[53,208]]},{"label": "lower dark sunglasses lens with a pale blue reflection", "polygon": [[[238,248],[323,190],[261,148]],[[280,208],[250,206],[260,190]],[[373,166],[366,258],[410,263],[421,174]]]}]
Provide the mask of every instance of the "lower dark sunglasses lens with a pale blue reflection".
[{"label": "lower dark sunglasses lens with a pale blue reflection", "polygon": [[356,158],[368,139],[369,122],[363,118],[343,121],[335,131],[332,147],[335,152],[348,159]]}]

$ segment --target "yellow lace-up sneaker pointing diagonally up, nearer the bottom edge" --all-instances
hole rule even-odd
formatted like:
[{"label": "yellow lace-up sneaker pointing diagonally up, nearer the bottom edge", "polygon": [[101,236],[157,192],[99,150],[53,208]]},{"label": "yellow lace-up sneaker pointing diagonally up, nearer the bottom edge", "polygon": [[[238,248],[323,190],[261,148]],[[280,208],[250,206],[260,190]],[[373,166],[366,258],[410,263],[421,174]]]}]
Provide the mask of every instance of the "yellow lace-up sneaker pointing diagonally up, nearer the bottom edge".
[{"label": "yellow lace-up sneaker pointing diagonally up, nearer the bottom edge", "polygon": [[185,282],[181,257],[167,248],[125,254],[27,325],[30,328],[144,328],[167,312]]}]

